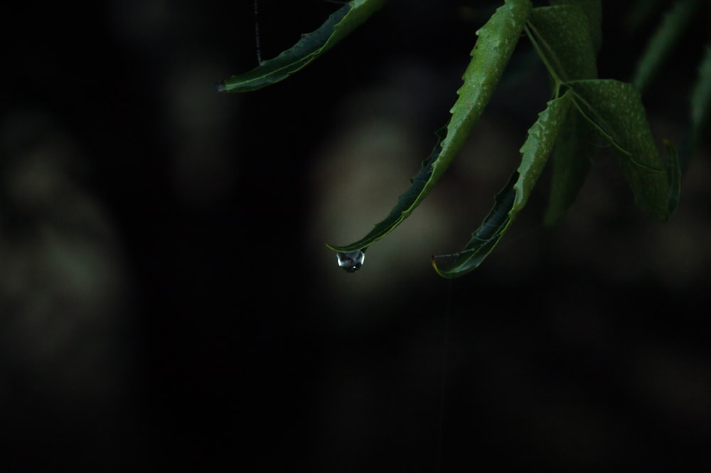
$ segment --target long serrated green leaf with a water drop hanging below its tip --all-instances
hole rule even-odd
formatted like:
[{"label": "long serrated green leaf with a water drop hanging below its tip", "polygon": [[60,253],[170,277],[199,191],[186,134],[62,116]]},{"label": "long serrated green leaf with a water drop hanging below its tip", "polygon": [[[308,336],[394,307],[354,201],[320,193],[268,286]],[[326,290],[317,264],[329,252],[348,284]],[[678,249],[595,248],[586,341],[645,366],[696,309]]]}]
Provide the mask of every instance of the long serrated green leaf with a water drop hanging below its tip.
[{"label": "long serrated green leaf with a water drop hanging below its tip", "polygon": [[499,7],[486,24],[476,31],[479,38],[471,51],[469,66],[462,76],[464,84],[456,92],[459,98],[451,107],[449,124],[437,132],[437,144],[422,163],[419,173],[411,179],[412,186],[398,198],[385,219],[377,223],[365,237],[349,245],[327,244],[328,248],[341,253],[364,250],[400,225],[427,196],[464,145],[484,107],[491,100],[518,43],[530,9],[530,0],[506,0],[506,4]]}]

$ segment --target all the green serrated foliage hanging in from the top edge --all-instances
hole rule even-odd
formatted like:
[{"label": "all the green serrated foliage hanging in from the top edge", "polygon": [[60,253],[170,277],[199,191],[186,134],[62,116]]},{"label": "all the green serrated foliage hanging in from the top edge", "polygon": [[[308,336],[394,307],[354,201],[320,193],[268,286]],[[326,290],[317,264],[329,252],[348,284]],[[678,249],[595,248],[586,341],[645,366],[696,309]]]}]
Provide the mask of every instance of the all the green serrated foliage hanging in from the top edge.
[{"label": "all the green serrated foliage hanging in from the top edge", "polygon": [[[381,4],[381,0],[351,1],[292,48],[255,70],[225,80],[220,90],[255,90],[286,78],[351,33]],[[650,42],[633,83],[624,83],[597,75],[597,53],[602,44],[599,0],[551,0],[550,6],[536,8],[530,0],[506,0],[476,31],[478,38],[457,91],[459,97],[451,107],[449,123],[437,132],[437,144],[411,179],[410,188],[370,233],[348,245],[328,247],[338,253],[365,251],[410,216],[459,154],[491,100],[522,34],[550,75],[550,101],[528,130],[520,149],[520,165],[496,195],[488,216],[464,249],[449,255],[454,256],[454,262],[442,267],[439,257],[432,258],[435,270],[443,277],[459,277],[478,267],[525,207],[551,156],[552,180],[545,221],[554,223],[560,219],[587,176],[593,139],[603,139],[614,149],[636,205],[659,220],[667,220],[679,201],[680,161],[668,142],[668,159],[661,157],[640,89],[651,80],[670,53],[673,38],[700,5],[697,0],[679,2]],[[710,76],[711,53],[707,53],[691,102],[693,144],[705,126],[711,100]]]}]

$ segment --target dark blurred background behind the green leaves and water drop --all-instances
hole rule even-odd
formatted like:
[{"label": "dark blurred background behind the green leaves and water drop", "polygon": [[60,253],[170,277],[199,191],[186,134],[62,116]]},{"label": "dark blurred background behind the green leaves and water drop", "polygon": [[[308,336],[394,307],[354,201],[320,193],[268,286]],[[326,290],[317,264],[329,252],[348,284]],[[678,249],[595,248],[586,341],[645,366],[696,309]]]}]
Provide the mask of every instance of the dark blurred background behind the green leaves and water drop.
[{"label": "dark blurred background behind the green leaves and water drop", "polygon": [[[626,80],[671,1],[604,2]],[[289,80],[252,0],[23,4],[4,16],[2,471],[454,472],[710,467],[708,139],[678,212],[641,214],[611,150],[555,228],[547,175],[483,265],[439,278],[518,164],[547,78],[521,41],[427,200],[360,238],[449,118],[498,2],[391,0]],[[338,9],[259,0],[271,58]],[[683,140],[695,18],[645,95]],[[702,469],[702,468],[700,468]]]}]

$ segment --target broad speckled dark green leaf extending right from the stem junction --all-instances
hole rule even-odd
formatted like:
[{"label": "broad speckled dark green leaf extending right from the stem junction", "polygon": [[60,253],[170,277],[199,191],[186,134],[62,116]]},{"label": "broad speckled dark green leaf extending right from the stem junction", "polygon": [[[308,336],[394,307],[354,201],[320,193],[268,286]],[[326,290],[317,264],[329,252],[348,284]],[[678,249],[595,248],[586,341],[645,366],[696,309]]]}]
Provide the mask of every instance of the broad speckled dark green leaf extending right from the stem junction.
[{"label": "broad speckled dark green leaf extending right from the stem junction", "polygon": [[679,164],[662,159],[636,87],[617,80],[576,80],[567,85],[577,110],[613,145],[636,205],[667,220],[673,198],[669,176],[679,172]]}]

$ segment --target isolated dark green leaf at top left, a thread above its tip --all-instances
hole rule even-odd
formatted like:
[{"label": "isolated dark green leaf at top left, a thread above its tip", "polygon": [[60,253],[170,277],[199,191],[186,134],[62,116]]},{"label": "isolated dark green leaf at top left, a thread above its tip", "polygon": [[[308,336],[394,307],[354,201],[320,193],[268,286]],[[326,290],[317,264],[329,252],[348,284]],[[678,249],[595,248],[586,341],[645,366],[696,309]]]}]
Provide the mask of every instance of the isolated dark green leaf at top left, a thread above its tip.
[{"label": "isolated dark green leaf at top left, a thread above its tip", "polygon": [[265,60],[247,73],[232,75],[218,83],[220,92],[249,92],[284,80],[311,61],[319,58],[336,43],[346,38],[364,23],[385,0],[353,0],[338,9],[315,31],[301,35],[301,39],[276,58]]}]

